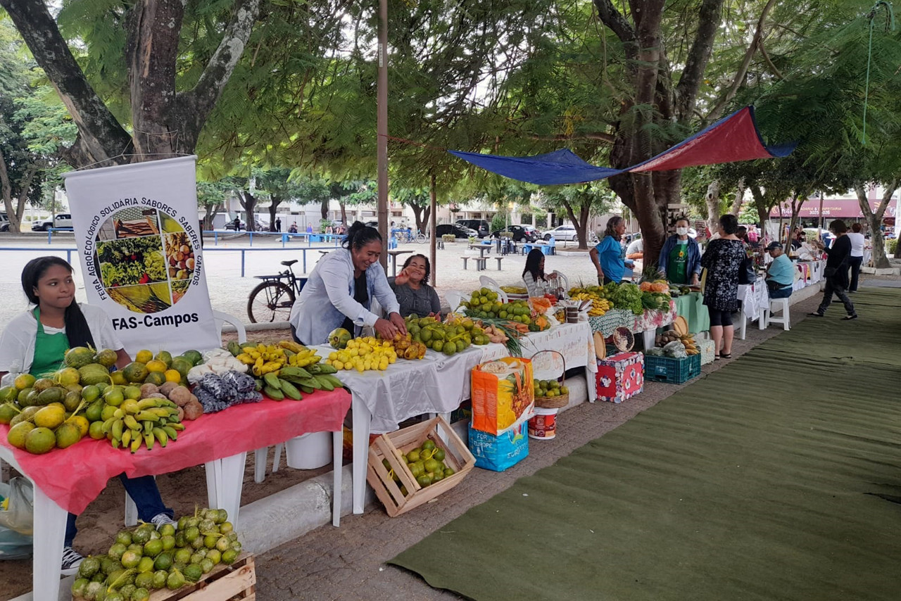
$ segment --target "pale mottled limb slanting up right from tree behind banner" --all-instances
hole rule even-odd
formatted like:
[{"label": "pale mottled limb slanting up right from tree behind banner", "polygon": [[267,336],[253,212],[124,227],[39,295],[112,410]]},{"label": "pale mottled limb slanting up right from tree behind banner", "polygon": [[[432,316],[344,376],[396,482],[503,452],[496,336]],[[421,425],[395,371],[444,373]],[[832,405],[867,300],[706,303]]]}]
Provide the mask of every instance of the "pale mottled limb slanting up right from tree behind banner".
[{"label": "pale mottled limb slanting up right from tree behind banner", "polygon": [[[7,2],[8,0],[2,0]],[[213,110],[219,96],[222,96],[225,84],[250,39],[250,32],[259,15],[260,0],[237,0],[232,11],[232,20],[225,27],[223,40],[219,48],[207,63],[204,73],[193,90],[181,95],[184,103],[184,115],[191,123],[185,123],[186,139],[196,141],[203,129],[206,117]],[[192,149],[193,150],[193,144]]]}]

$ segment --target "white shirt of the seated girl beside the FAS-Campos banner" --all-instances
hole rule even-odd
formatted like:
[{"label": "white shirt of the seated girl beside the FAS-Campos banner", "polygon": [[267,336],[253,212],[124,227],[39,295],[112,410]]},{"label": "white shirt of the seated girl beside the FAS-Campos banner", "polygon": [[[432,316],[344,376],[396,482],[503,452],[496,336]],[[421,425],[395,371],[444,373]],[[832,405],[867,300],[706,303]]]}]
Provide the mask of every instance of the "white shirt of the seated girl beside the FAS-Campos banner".
[{"label": "white shirt of the seated girl beside the FAS-Campos banner", "polygon": [[[81,313],[85,315],[87,328],[91,331],[97,350],[112,349],[119,351],[123,348],[122,341],[113,329],[113,322],[103,309],[94,305],[82,305]],[[38,335],[38,322],[34,319],[34,309],[29,309],[16,315],[10,323],[6,324],[3,335],[0,336],[0,371],[8,371],[14,378],[18,374],[28,373],[32,368],[34,359],[34,342]],[[66,332],[66,329],[57,329],[44,326],[44,332],[55,334]],[[4,378],[5,380],[6,378]]]}]

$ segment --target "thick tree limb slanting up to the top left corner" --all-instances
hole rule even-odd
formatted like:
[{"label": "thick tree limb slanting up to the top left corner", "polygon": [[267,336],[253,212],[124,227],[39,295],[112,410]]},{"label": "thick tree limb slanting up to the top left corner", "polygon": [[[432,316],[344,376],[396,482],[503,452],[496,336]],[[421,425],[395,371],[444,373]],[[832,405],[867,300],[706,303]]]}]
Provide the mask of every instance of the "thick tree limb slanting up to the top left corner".
[{"label": "thick tree limb slanting up to the top left corner", "polygon": [[88,156],[92,162],[107,159],[127,162],[115,158],[131,143],[131,136],[88,83],[47,6],[42,0],[0,0],[0,5],[13,19],[34,59],[44,69],[77,125],[82,150],[79,156]]}]

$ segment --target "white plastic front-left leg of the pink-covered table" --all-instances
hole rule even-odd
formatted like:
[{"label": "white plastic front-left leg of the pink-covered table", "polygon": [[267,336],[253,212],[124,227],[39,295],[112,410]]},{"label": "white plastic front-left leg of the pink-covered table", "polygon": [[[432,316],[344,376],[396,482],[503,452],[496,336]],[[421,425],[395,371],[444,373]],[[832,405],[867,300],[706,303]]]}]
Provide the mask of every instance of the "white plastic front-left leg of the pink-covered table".
[{"label": "white plastic front-left leg of the pink-covered table", "polygon": [[32,560],[34,599],[59,598],[59,566],[66,538],[66,518],[66,510],[35,486]]}]

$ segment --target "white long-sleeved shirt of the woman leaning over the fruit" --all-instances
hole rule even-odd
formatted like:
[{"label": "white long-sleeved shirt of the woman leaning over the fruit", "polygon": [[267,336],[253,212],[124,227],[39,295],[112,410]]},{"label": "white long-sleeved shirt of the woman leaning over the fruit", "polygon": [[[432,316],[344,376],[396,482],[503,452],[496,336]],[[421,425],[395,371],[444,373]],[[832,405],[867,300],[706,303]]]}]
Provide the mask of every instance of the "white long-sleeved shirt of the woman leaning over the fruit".
[{"label": "white long-sleeved shirt of the woman leaning over the fruit", "polygon": [[[369,302],[375,297],[387,314],[399,314],[400,305],[394,290],[388,286],[381,263],[373,263],[363,274],[366,276]],[[316,263],[304,289],[291,307],[288,322],[295,327],[297,338],[305,344],[324,344],[328,341],[329,332],[344,323],[345,315],[358,328],[375,325],[378,315],[369,311],[369,306],[355,301],[353,292],[353,260],[350,250],[332,250]]]}]

